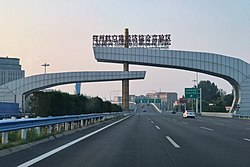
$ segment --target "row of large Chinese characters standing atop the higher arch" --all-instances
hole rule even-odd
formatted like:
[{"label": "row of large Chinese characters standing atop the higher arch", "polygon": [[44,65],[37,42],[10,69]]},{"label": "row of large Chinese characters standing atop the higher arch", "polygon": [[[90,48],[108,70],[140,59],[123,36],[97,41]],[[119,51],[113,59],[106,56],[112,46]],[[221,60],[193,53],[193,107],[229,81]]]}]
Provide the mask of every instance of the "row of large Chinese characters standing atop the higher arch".
[{"label": "row of large Chinese characters standing atop the higher arch", "polygon": [[[93,46],[123,47],[124,35],[93,35]],[[129,35],[130,47],[160,47],[168,48],[171,45],[170,34],[166,35]]]}]

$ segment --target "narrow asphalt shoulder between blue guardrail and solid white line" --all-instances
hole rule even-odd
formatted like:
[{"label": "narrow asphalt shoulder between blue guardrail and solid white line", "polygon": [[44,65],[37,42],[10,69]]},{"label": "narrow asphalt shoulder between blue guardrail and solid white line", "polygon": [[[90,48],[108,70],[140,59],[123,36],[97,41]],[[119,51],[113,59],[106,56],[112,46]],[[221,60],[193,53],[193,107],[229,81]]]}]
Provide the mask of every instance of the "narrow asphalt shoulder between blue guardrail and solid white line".
[{"label": "narrow asphalt shoulder between blue guardrail and solid white line", "polygon": [[[102,122],[102,123],[95,124],[95,125],[90,125],[81,129],[75,129],[73,130],[73,131],[76,131],[75,133],[63,135],[61,137],[55,138],[54,140],[50,140],[48,142],[41,143],[35,146],[31,146],[27,149],[9,154],[7,156],[0,157],[0,166],[4,166],[4,167],[18,166],[19,164],[27,162],[30,159],[33,159],[44,153],[47,153],[79,137],[92,133],[93,131],[103,128],[115,121],[116,119]],[[67,132],[67,133],[71,133],[71,132]]]}]

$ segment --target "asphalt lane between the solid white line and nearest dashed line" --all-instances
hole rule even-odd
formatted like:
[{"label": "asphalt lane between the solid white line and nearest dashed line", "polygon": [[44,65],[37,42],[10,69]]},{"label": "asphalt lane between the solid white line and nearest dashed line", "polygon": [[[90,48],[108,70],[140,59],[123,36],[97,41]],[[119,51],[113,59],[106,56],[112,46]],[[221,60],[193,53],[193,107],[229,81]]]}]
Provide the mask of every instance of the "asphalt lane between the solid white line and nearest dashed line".
[{"label": "asphalt lane between the solid white line and nearest dashed line", "polygon": [[34,166],[175,166],[168,144],[146,113],[137,113]]}]

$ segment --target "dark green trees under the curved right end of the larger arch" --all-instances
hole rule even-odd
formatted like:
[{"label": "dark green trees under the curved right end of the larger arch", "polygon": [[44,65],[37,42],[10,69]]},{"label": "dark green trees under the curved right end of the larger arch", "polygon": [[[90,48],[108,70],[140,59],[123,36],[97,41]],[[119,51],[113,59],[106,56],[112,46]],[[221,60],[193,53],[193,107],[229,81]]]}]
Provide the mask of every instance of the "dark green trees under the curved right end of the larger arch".
[{"label": "dark green trees under the curved right end of the larger arch", "polygon": [[[231,106],[233,94],[226,94],[210,81],[200,81],[198,88],[202,90],[202,110],[209,112],[226,112],[225,107]],[[192,104],[189,104],[189,106]]]}]

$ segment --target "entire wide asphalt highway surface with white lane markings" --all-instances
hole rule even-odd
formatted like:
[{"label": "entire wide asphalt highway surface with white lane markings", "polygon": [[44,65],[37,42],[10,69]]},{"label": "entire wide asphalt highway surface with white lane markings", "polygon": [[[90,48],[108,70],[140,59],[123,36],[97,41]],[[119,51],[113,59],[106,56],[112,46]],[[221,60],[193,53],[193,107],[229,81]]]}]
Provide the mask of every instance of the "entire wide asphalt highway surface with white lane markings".
[{"label": "entire wide asphalt highway surface with white lane markings", "polygon": [[250,166],[250,120],[184,119],[151,105],[143,108],[139,105],[120,122],[101,123],[1,157],[0,166]]}]

